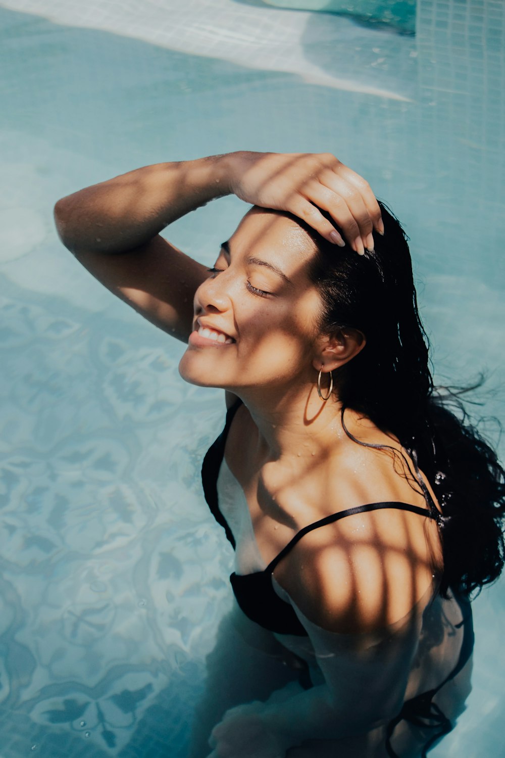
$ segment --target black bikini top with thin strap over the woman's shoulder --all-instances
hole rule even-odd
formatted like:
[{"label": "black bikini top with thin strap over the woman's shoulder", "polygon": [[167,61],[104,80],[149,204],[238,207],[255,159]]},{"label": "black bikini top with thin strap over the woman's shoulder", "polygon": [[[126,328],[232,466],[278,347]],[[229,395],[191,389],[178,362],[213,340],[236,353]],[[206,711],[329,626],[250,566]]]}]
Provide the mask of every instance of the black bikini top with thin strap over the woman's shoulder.
[{"label": "black bikini top with thin strap over the woman's shoulder", "polygon": [[[226,412],[225,427],[220,436],[217,437],[217,440],[215,440],[207,450],[201,467],[201,481],[204,487],[205,500],[207,500],[210,511],[214,514],[216,521],[224,528],[226,537],[228,537],[234,549],[235,538],[226,522],[226,518],[224,518],[223,514],[220,512],[217,497],[217,477],[219,475],[221,463],[223,462],[226,437],[228,437],[229,428],[232,424],[235,412],[241,404],[242,401],[238,400],[238,402]],[[334,513],[325,518],[320,518],[319,521],[316,521],[313,524],[309,524],[295,534],[295,537],[293,537],[292,540],[290,540],[281,550],[279,555],[267,565],[267,568],[265,568],[264,571],[246,575],[237,575],[233,572],[230,576],[230,581],[238,605],[249,619],[260,626],[263,626],[263,628],[274,631],[277,634],[295,634],[298,637],[307,637],[307,631],[298,619],[293,607],[289,603],[286,603],[285,600],[282,600],[273,589],[272,573],[279,561],[281,561],[291,548],[295,547],[298,540],[301,540],[301,538],[309,531],[326,526],[327,524],[332,524],[333,522],[337,522],[340,518],[345,518],[345,516],[354,515],[355,513],[388,508],[410,511],[436,520],[438,518],[438,511],[430,496],[429,500],[431,500],[429,503],[429,510],[419,508],[418,506],[411,506],[409,503],[369,503],[369,505],[366,506],[357,506],[356,508],[349,508]]]}]

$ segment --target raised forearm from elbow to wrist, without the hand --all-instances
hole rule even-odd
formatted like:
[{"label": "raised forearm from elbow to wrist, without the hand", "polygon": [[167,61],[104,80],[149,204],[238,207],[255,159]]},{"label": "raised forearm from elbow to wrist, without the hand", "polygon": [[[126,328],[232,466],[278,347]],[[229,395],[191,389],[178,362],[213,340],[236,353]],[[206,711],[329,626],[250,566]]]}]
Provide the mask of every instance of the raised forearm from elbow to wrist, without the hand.
[{"label": "raised forearm from elbow to wrist, without the hand", "polygon": [[177,218],[231,192],[232,155],[145,166],[64,197],[55,206],[62,242],[72,252],[104,253],[147,243]]}]

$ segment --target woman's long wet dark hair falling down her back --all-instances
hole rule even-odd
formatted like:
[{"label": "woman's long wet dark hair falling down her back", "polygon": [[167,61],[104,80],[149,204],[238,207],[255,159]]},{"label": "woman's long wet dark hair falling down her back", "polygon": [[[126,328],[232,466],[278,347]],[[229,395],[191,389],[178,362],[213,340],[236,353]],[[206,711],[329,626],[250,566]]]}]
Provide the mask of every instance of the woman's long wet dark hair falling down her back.
[{"label": "woman's long wet dark hair falling down her back", "polygon": [[385,234],[374,233],[375,251],[363,256],[301,224],[317,248],[309,275],[323,300],[320,326],[365,334],[366,346],[335,375],[342,418],[354,409],[394,434],[427,476],[443,512],[441,594],[470,594],[503,568],[505,472],[469,424],[463,392],[433,385],[407,236],[380,205]]}]

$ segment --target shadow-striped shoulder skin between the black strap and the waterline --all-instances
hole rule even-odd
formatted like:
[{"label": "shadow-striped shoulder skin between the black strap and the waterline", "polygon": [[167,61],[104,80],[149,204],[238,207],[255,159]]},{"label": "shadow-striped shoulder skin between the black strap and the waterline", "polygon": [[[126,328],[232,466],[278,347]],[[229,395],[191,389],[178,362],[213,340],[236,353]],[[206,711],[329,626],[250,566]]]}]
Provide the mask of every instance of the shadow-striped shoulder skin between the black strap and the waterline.
[{"label": "shadow-striped shoulder skin between the black strap and the waterline", "polygon": [[[410,517],[422,517],[404,512],[399,525],[397,513],[360,513],[317,528],[279,563],[276,579],[307,619],[328,631],[363,634],[403,619],[426,595],[433,556],[426,543],[407,538]],[[383,517],[389,536],[378,528]]]}]

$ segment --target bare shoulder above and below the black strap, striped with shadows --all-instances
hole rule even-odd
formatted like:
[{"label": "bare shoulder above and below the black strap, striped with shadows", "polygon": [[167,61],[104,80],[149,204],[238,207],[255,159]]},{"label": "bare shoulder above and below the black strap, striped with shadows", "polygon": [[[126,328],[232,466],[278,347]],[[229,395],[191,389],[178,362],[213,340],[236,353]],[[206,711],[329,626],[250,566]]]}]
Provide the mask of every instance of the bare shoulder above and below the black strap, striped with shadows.
[{"label": "bare shoulder above and below the black strap, striped with shadows", "polygon": [[[382,507],[309,531],[276,567],[304,615],[329,631],[364,633],[403,619],[441,568],[437,522],[402,455],[399,445],[388,454],[350,443],[320,493],[324,512],[310,522],[369,503]],[[385,507],[391,503],[422,513]]]}]

